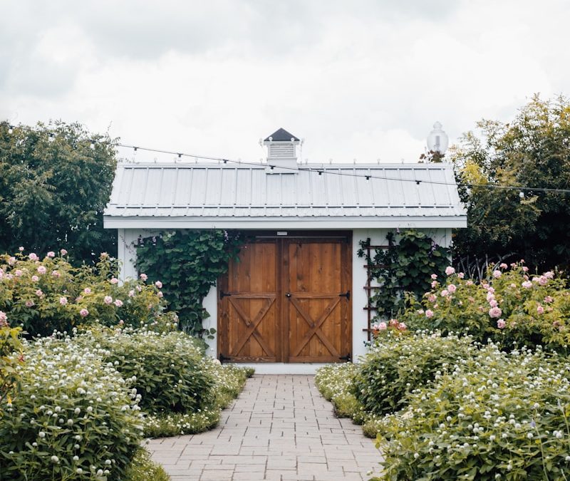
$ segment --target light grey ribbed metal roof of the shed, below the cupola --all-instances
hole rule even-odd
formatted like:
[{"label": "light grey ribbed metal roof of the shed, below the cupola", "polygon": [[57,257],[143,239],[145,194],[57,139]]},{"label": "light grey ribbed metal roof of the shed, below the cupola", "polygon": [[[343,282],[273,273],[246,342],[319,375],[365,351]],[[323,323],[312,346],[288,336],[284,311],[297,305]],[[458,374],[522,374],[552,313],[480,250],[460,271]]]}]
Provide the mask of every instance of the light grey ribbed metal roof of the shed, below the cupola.
[{"label": "light grey ribbed metal roof of the shed, below the cupola", "polygon": [[295,173],[266,168],[120,163],[105,227],[350,229],[467,223],[451,166],[444,163],[302,164]]}]

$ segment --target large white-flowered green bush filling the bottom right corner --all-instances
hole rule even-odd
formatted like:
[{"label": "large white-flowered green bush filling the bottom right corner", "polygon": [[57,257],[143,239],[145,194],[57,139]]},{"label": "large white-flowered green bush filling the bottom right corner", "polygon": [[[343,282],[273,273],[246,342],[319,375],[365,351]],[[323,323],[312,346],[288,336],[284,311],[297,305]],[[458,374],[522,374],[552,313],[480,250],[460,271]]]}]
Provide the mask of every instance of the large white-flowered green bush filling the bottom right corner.
[{"label": "large white-flowered green bush filling the bottom right corner", "polygon": [[378,423],[383,480],[570,478],[570,365],[495,346]]}]

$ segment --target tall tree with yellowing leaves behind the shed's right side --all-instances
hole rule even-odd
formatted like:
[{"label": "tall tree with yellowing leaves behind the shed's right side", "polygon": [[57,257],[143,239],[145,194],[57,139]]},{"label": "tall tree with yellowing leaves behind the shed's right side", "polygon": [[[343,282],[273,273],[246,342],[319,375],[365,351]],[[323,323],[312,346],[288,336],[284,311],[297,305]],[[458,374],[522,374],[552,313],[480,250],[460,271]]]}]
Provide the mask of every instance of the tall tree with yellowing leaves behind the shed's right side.
[{"label": "tall tree with yellowing leaves behind the shed's right side", "polygon": [[[514,254],[538,269],[570,266],[570,103],[534,95],[512,123],[482,120],[451,152],[467,207],[455,257]],[[521,194],[522,192],[522,194]],[[522,197],[524,195],[524,197]]]}]

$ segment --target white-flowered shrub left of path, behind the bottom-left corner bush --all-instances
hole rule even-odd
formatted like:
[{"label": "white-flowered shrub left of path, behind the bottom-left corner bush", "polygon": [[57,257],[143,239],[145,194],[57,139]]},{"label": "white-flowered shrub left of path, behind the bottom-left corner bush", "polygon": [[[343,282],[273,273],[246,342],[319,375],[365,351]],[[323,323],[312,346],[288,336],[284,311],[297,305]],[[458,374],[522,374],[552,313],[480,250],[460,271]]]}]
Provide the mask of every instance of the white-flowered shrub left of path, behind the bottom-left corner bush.
[{"label": "white-flowered shrub left of path, behind the bottom-left corner bush", "polygon": [[185,333],[93,327],[75,341],[133,379],[142,395],[140,407],[147,413],[195,413],[214,403],[210,361]]}]

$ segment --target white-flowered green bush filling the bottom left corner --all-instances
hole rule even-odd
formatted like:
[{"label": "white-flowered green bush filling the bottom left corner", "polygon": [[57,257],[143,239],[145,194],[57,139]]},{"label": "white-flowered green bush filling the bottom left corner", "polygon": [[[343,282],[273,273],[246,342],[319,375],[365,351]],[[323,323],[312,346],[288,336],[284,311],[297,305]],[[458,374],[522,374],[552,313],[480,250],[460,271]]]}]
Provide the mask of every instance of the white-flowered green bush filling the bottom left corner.
[{"label": "white-flowered green bush filling the bottom left corner", "polygon": [[136,391],[70,338],[25,348],[0,417],[2,480],[120,480],[142,439]]}]

